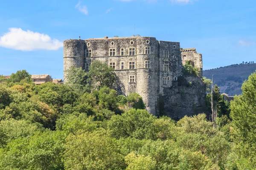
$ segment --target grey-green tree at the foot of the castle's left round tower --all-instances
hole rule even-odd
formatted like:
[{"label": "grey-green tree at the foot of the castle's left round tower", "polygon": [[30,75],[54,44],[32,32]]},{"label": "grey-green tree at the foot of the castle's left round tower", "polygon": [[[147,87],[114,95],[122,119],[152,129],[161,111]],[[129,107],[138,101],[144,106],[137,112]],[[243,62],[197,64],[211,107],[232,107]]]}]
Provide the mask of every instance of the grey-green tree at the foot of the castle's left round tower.
[{"label": "grey-green tree at the foot of the castle's left round tower", "polygon": [[71,85],[77,91],[90,92],[89,82],[88,74],[81,67],[71,67],[71,69],[67,71],[66,84]]}]

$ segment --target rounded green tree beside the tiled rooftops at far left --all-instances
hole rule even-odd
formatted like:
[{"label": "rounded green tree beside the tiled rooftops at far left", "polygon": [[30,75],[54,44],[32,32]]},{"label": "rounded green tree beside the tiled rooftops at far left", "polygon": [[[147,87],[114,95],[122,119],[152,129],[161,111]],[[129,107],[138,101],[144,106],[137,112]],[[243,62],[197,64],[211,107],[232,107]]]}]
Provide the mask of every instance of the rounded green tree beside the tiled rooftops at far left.
[{"label": "rounded green tree beside the tiled rooftops at far left", "polygon": [[20,82],[24,79],[24,82],[32,82],[31,75],[26,70],[19,70],[16,73],[12,73],[7,82]]}]

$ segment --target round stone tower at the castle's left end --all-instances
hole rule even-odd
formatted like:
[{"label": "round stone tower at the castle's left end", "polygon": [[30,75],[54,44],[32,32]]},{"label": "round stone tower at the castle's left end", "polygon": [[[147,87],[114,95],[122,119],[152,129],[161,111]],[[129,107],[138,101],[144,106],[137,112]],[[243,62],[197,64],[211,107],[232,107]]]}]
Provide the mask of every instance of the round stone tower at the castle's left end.
[{"label": "round stone tower at the castle's left end", "polygon": [[64,83],[67,81],[67,70],[72,66],[84,69],[84,40],[64,40]]}]

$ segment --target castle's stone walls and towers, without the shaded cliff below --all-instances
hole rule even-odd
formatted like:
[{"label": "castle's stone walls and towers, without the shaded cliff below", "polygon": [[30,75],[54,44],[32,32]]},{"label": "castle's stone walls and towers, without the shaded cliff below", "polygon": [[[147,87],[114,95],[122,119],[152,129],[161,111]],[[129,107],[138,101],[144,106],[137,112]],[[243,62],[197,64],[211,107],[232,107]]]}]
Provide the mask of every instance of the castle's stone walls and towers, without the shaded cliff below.
[{"label": "castle's stone walls and towers, without the shaded cliff below", "polygon": [[[155,37],[64,40],[64,81],[71,66],[89,71],[94,60],[106,62],[115,70],[118,93],[126,96],[133,92],[140,94],[147,111],[158,115],[159,96],[165,96],[167,88],[177,85],[183,60],[186,60],[186,57],[182,58],[185,53],[187,51],[180,48],[180,42],[159,41]],[[190,58],[202,67],[199,55]]]}]

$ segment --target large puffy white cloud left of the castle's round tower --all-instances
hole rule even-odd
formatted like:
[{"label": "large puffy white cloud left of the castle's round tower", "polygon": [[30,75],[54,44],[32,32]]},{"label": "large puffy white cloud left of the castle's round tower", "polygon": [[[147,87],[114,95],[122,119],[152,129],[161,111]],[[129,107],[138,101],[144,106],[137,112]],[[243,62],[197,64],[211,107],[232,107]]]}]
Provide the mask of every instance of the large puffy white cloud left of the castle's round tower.
[{"label": "large puffy white cloud left of the castle's round tower", "polygon": [[33,50],[58,50],[63,43],[51,39],[47,34],[40,34],[21,28],[9,28],[9,32],[0,37],[0,46],[22,51]]}]

